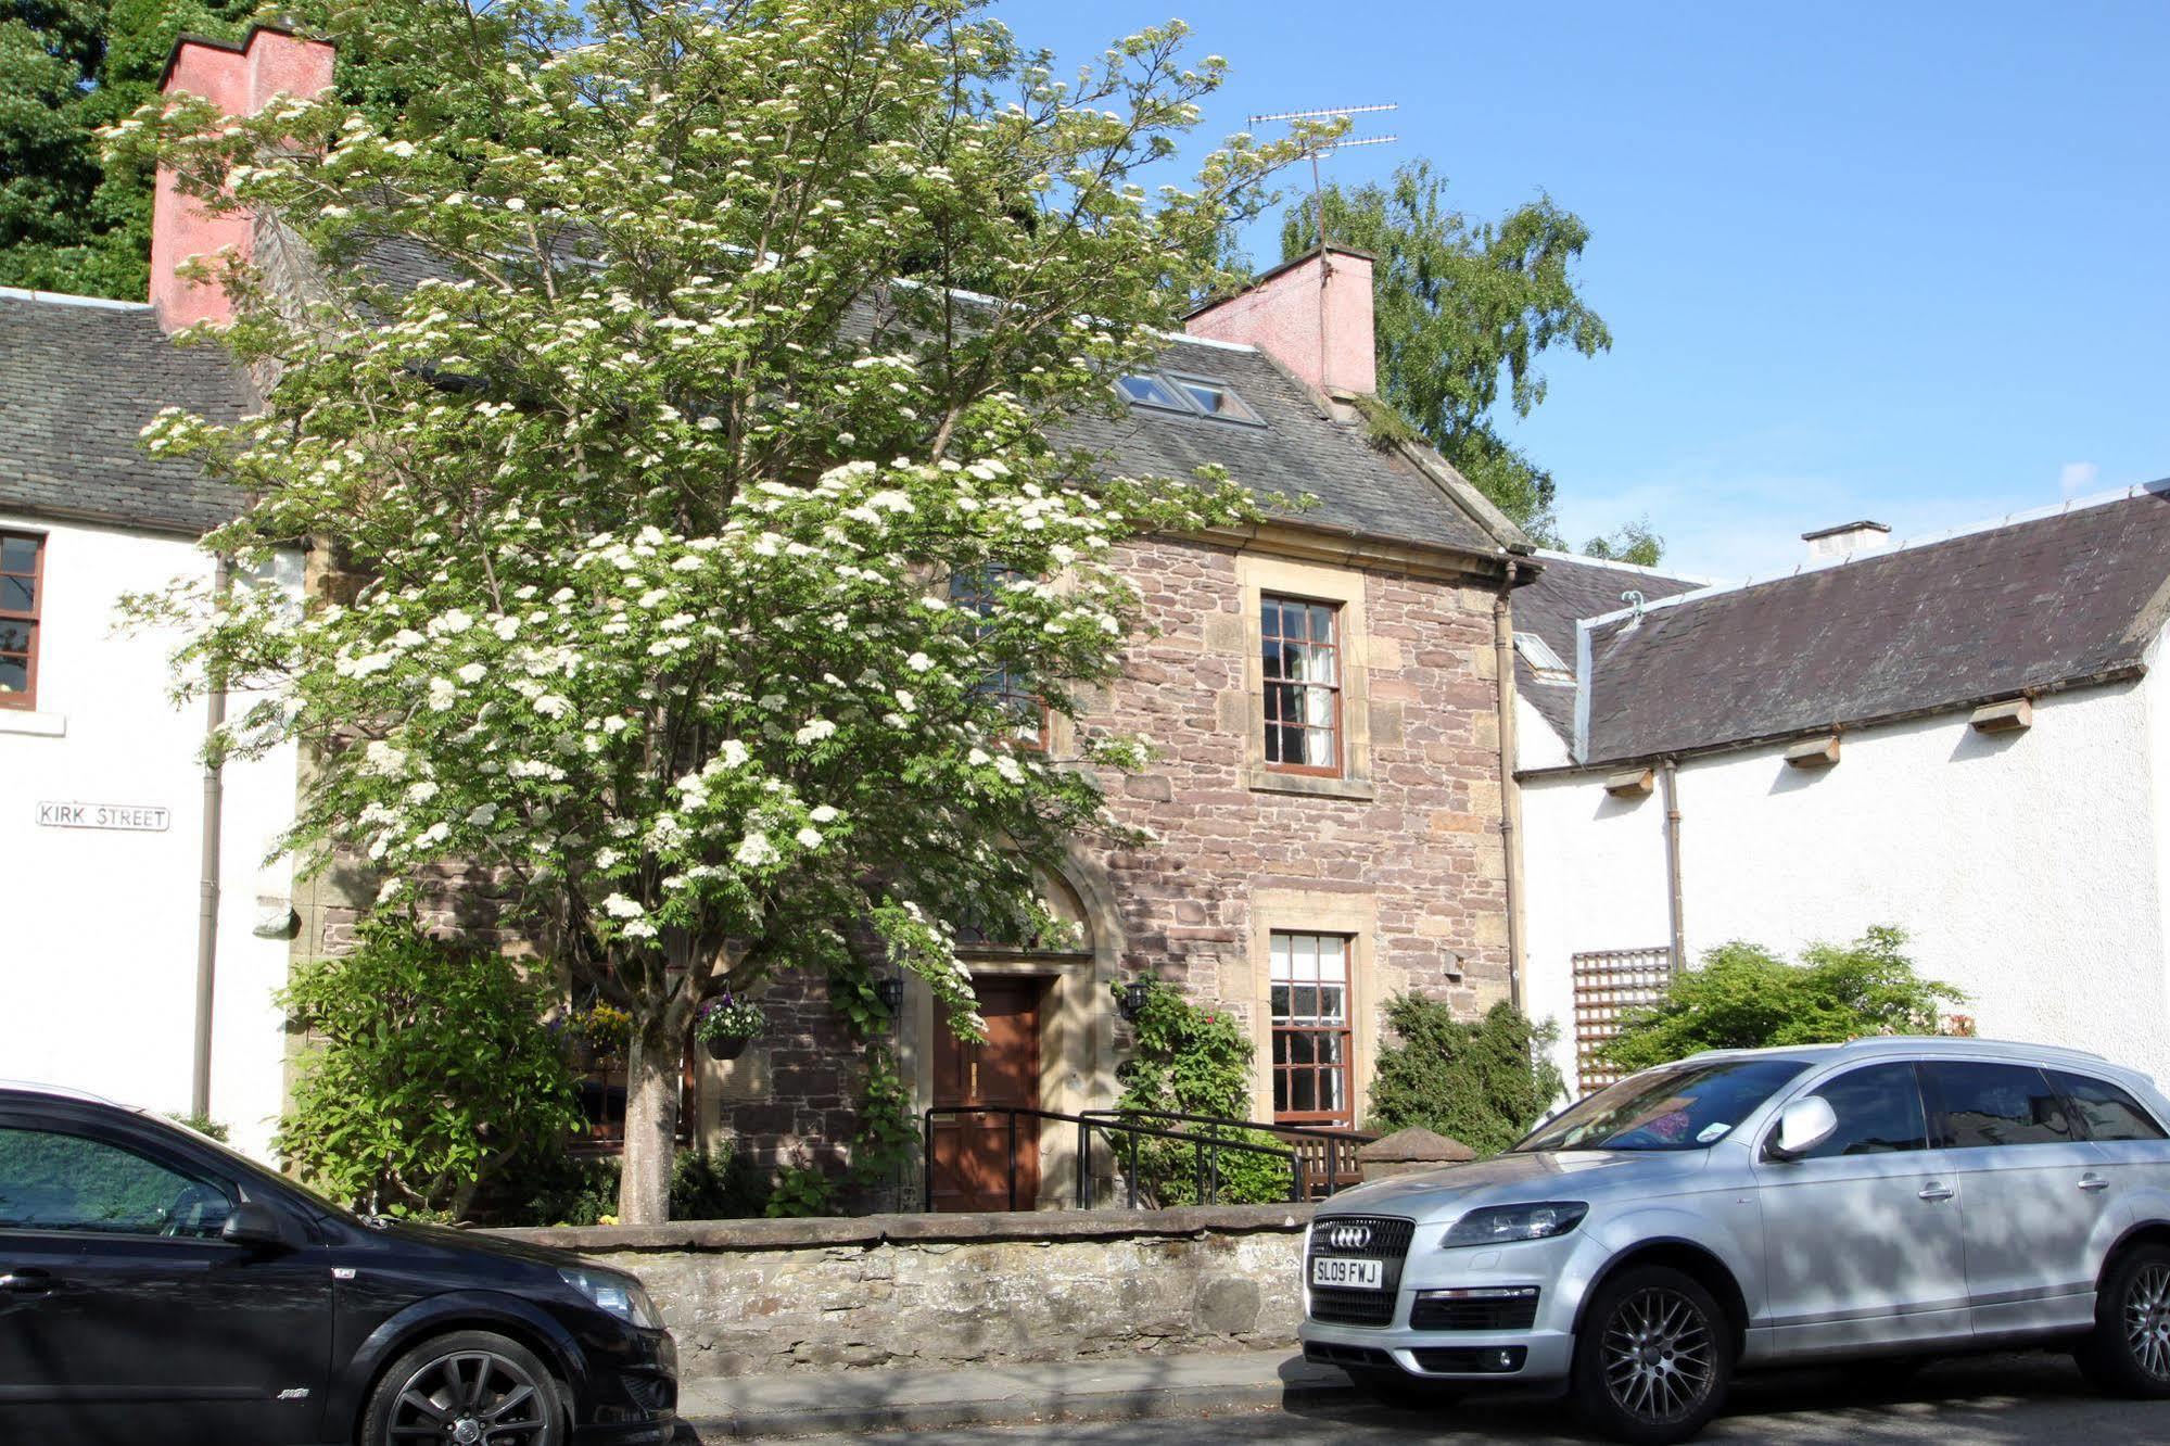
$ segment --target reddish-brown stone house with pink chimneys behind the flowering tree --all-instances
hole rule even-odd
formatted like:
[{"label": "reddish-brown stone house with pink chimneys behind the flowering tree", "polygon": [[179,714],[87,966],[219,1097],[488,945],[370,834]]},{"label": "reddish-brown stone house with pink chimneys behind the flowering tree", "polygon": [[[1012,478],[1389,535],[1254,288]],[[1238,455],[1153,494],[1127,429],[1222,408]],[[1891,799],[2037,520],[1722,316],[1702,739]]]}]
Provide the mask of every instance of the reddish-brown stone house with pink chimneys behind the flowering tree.
[{"label": "reddish-brown stone house with pink chimneys behind the flowering tree", "polygon": [[[167,67],[169,89],[232,109],[328,83],[330,50],[278,30],[182,41]],[[306,284],[308,258],[276,217],[204,217],[161,182],[145,324],[219,315],[224,297],[174,276],[215,245]],[[905,999],[898,1057],[920,1107],[1113,1103],[1115,986],[1154,977],[1246,1020],[1254,1118],[1354,1125],[1391,994],[1469,1012],[1515,994],[1502,660],[1528,543],[1441,458],[1367,434],[1356,402],[1374,386],[1371,352],[1371,261],[1306,256],[1200,310],[1154,369],[1115,378],[1124,417],[1072,423],[1070,441],[1111,469],[1220,465],[1300,506],[1128,549],[1152,632],[1085,719],[1159,749],[1146,773],[1107,779],[1120,821],[1154,842],[1076,847],[1048,879],[1081,927],[1076,949],[974,949],[985,1042],[957,1042],[924,994]],[[1076,758],[1070,721],[1050,719],[1039,747]],[[339,951],[373,892],[336,871],[315,884],[295,901],[295,957]],[[688,1060],[688,1133],[768,1164],[833,1153],[853,1127],[851,1044],[818,986],[779,981],[762,1003],[770,1029],[742,1057]],[[289,1040],[260,1027],[221,1049],[278,1060]],[[592,1081],[605,1125],[610,1090]],[[935,1179],[937,1198],[1003,1203],[1000,1140],[994,1166],[976,1149],[976,1166]],[[1068,1151],[1063,1131],[1026,1125],[1020,1205],[1065,1198]]]}]

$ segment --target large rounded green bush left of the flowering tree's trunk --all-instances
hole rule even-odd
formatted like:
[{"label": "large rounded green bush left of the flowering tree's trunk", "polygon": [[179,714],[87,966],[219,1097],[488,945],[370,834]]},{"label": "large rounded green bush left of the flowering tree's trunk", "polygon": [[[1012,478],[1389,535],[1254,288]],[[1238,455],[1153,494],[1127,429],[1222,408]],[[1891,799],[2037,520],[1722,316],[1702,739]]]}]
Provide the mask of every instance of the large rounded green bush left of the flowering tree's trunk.
[{"label": "large rounded green bush left of the flowering tree's trunk", "polygon": [[278,1149],[334,1198],[464,1218],[484,1181],[579,1129],[547,997],[495,951],[380,912],[280,1001],[312,1044]]}]

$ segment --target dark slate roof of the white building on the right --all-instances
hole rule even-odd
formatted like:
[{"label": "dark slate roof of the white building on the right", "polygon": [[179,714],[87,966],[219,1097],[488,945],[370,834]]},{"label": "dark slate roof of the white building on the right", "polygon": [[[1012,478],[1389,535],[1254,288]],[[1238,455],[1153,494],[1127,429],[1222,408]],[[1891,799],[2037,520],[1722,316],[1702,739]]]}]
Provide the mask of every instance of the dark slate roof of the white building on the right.
[{"label": "dark slate roof of the white building on the right", "polygon": [[1591,630],[1584,764],[2133,677],[2166,617],[2170,480],[1688,593]]}]

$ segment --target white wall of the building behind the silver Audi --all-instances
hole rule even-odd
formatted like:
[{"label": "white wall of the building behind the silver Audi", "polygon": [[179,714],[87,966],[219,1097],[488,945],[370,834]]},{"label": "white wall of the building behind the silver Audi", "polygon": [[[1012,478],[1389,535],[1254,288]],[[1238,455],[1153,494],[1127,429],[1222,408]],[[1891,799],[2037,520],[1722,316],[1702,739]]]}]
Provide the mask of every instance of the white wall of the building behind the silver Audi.
[{"label": "white wall of the building behind the silver Audi", "polygon": [[[2033,719],[1849,732],[1827,771],[1788,769],[1779,747],[1682,762],[1690,962],[1732,938],[1790,955],[1890,923],[1925,975],[1973,997],[1983,1036],[2170,1077],[2170,684],[2055,695]],[[1560,1020],[1573,1079],[1571,955],[1667,942],[1662,790],[1528,779],[1523,838],[1530,1010]]]}]

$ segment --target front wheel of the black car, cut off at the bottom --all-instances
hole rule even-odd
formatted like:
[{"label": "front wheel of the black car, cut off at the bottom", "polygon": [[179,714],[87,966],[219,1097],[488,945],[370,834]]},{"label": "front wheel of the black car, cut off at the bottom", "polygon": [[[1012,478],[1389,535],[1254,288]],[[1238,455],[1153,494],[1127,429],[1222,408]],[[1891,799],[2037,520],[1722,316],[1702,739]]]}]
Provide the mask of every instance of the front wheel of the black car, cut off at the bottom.
[{"label": "front wheel of the black car, cut off at the bottom", "polygon": [[564,1446],[564,1387],[534,1350],[495,1331],[432,1335],[378,1377],[360,1439],[401,1446],[419,1439],[417,1426],[462,1446]]}]

